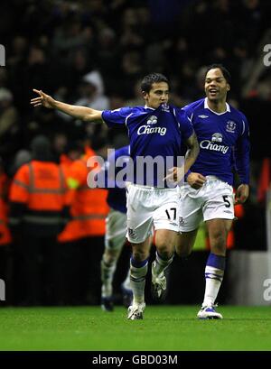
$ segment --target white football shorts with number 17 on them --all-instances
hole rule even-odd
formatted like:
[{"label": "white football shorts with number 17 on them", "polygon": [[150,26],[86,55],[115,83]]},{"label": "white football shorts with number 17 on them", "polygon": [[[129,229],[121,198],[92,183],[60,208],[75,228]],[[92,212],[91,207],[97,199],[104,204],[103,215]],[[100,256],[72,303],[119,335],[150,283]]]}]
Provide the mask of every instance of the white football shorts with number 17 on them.
[{"label": "white football shorts with number 17 on them", "polygon": [[180,188],[160,189],[131,183],[127,186],[127,239],[144,242],[153,228],[178,232]]}]

